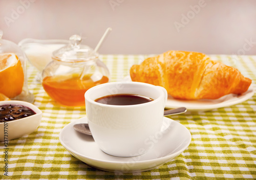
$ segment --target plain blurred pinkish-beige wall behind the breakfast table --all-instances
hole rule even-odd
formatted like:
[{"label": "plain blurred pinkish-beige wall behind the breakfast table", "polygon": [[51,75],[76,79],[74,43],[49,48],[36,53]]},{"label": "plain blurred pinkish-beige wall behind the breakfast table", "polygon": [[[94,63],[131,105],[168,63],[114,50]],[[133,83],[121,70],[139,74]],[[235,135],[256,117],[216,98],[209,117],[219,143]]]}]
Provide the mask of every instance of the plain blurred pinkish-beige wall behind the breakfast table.
[{"label": "plain blurred pinkish-beige wall behind the breakfast table", "polygon": [[101,54],[168,50],[256,55],[254,0],[0,0],[4,39],[87,37]]}]

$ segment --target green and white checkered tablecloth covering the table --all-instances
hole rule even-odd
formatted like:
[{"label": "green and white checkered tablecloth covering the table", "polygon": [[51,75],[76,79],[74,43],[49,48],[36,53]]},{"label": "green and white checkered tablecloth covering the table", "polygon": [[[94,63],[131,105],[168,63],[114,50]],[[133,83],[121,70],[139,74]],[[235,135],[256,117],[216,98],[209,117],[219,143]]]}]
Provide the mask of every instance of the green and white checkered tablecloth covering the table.
[{"label": "green and white checkered tablecloth covering the table", "polygon": [[[129,76],[132,64],[145,57],[103,55],[101,59],[111,72],[111,81],[120,81]],[[237,67],[253,80],[256,90],[256,56],[211,57]],[[8,176],[4,175],[4,144],[0,143],[0,179],[256,179],[256,95],[237,105],[172,116],[191,133],[191,143],[184,152],[151,171],[112,173],[84,164],[59,142],[60,130],[84,117],[85,107],[56,105],[36,83],[37,70],[28,65],[27,73],[42,120],[33,133],[9,141]]]}]

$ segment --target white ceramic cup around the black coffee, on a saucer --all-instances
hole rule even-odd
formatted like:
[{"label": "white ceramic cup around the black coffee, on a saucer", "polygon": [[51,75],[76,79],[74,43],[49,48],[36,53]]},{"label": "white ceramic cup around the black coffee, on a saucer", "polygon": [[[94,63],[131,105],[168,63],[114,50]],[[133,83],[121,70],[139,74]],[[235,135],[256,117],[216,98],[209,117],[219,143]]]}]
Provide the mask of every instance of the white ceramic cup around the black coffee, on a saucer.
[{"label": "white ceramic cup around the black coffee, on a saucer", "polygon": [[[135,105],[98,103],[100,97],[136,94],[153,101]],[[90,88],[85,94],[86,115],[99,148],[110,155],[130,157],[147,152],[151,138],[161,129],[167,92],[142,82],[110,82]]]}]

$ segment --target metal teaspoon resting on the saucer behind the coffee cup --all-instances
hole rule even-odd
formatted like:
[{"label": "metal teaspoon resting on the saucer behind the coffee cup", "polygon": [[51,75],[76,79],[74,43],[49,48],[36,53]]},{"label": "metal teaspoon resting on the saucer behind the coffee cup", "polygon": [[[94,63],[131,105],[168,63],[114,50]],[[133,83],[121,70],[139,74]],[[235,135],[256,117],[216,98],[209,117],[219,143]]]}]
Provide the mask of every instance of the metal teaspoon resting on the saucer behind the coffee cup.
[{"label": "metal teaspoon resting on the saucer behind the coffee cup", "polygon": [[[186,113],[187,109],[185,107],[179,107],[176,109],[169,109],[165,110],[163,116],[169,116],[169,115],[178,115],[182,113]],[[80,133],[87,134],[92,136],[92,133],[90,131],[88,123],[80,123],[80,124],[74,124],[74,129],[77,130]]]}]

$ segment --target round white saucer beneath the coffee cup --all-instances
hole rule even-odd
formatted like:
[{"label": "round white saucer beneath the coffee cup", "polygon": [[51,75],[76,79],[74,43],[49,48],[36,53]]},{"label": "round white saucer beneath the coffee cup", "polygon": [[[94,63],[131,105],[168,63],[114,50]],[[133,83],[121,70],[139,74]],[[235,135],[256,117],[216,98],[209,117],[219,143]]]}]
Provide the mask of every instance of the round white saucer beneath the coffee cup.
[{"label": "round white saucer beneath the coffee cup", "polygon": [[131,158],[120,158],[104,153],[91,136],[77,132],[73,128],[77,123],[87,123],[87,118],[73,121],[61,130],[59,140],[62,146],[89,166],[110,172],[141,172],[155,169],[176,158],[191,141],[191,134],[185,126],[164,117],[160,133],[162,136],[152,140],[154,146],[147,153]]}]

